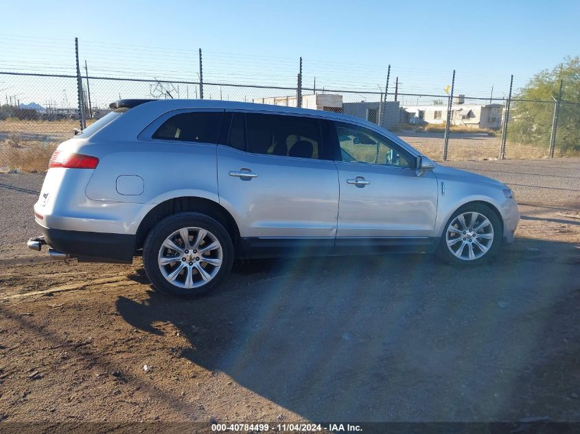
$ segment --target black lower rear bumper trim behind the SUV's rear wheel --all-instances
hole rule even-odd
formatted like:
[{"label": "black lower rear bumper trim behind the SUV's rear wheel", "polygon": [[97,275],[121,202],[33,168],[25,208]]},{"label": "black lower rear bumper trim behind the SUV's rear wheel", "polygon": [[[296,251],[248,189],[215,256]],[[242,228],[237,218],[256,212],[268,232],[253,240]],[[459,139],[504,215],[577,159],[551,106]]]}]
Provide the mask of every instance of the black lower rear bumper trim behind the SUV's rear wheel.
[{"label": "black lower rear bumper trim behind the SUV's rear wheel", "polygon": [[85,262],[131,263],[135,254],[135,235],[81,232],[40,226],[46,243],[59,252]]}]

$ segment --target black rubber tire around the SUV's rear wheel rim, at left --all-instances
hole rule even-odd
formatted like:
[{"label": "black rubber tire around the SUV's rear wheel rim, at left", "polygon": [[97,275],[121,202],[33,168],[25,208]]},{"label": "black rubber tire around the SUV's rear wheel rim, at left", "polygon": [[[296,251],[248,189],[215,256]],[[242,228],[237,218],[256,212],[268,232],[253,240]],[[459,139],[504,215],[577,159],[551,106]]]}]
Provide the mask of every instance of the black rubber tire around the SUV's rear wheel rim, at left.
[{"label": "black rubber tire around the SUV's rear wheel rim, at left", "polygon": [[[158,255],[161,245],[165,242],[167,237],[170,237],[171,234],[181,228],[205,229],[208,232],[211,232],[221,245],[222,262],[216,275],[205,283],[205,285],[198,288],[187,289],[173,285],[165,278],[165,276],[163,276],[158,263]],[[172,254],[170,254],[170,256],[172,256]],[[218,287],[231,270],[233,256],[233,243],[227,230],[225,230],[225,228],[215,219],[205,214],[193,212],[176,213],[169,217],[165,217],[165,219],[159,221],[159,223],[149,232],[147,239],[143,244],[143,267],[145,268],[147,277],[151,281],[153,287],[163,293],[182,298],[202,296]],[[177,267],[177,264],[178,262],[168,265],[167,267]]]}]

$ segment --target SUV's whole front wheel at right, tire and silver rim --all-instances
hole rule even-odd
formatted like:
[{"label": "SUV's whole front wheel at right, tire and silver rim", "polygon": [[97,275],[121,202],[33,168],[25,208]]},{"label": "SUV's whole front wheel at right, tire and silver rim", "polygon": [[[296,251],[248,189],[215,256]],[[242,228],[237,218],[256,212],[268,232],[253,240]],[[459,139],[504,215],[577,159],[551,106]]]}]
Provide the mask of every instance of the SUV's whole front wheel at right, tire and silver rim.
[{"label": "SUV's whole front wheel at right, tire and silver rim", "polygon": [[483,204],[467,204],[445,225],[437,254],[448,263],[476,265],[498,252],[501,239],[502,225],[494,210]]}]

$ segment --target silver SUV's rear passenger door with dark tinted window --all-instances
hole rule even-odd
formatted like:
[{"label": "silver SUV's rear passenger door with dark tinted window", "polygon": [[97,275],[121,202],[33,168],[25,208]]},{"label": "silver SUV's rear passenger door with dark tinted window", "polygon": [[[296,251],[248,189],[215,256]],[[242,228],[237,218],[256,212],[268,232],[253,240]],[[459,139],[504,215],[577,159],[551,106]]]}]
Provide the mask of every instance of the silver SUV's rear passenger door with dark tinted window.
[{"label": "silver SUV's rear passenger door with dark tinted window", "polygon": [[338,172],[320,121],[271,112],[233,112],[218,145],[220,204],[253,247],[334,247]]}]

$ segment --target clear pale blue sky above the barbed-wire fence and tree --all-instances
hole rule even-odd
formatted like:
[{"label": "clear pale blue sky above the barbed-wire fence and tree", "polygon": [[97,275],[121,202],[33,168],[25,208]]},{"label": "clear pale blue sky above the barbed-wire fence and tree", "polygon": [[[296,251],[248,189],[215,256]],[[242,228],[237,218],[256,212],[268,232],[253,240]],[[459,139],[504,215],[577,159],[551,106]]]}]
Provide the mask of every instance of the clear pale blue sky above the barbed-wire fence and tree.
[{"label": "clear pale blue sky above the barbed-wire fence and tree", "polygon": [[[364,91],[384,89],[389,64],[390,92],[399,77],[400,92],[444,94],[455,69],[456,94],[489,97],[494,86],[494,97],[501,97],[511,74],[518,88],[580,51],[579,1],[1,3],[0,71],[74,74],[78,37],[80,62],[86,60],[91,76],[197,81],[201,48],[205,82],[295,86],[302,57],[303,86],[316,80],[317,89],[361,91],[354,99],[372,99]],[[52,95],[60,84],[23,83],[0,75],[0,97],[65,98]],[[149,84],[94,87],[95,98],[100,87],[111,95],[154,91]],[[181,97],[196,91],[179,88]],[[220,96],[216,86],[205,91],[223,99],[288,94],[227,87]]]}]

